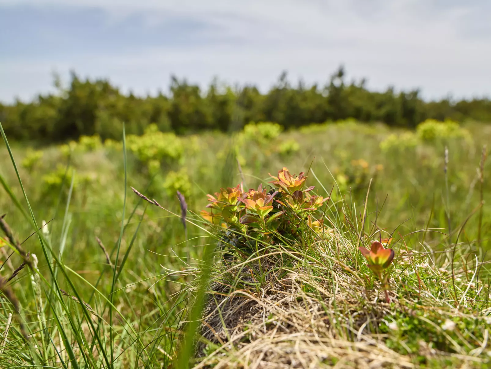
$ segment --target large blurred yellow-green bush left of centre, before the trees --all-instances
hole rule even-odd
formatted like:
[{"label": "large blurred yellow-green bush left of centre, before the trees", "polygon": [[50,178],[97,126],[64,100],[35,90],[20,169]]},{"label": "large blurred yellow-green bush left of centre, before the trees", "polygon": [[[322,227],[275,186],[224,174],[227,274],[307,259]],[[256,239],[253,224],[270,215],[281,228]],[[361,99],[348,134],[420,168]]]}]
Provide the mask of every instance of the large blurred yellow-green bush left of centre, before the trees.
[{"label": "large blurred yellow-green bush left of centre, before the trees", "polygon": [[182,141],[174,133],[161,132],[157,124],[150,124],[142,136],[128,135],[127,146],[138,160],[164,160],[171,162],[181,157]]}]

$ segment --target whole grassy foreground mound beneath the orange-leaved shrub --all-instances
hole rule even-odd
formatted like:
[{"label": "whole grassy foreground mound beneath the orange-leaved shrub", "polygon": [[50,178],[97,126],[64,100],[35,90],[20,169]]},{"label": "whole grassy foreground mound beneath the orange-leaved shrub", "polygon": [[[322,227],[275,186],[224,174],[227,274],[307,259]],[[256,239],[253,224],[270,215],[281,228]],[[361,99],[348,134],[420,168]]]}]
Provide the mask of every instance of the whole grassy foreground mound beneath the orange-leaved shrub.
[{"label": "whole grassy foreground mound beneath the orange-leaved shrub", "polygon": [[[377,226],[378,214],[364,209],[358,216],[341,202],[340,212],[336,204],[324,210],[331,227],[310,226],[302,245],[299,238],[260,243],[253,228],[241,242],[253,239],[255,252],[244,258],[233,242],[222,262],[217,256],[194,346],[196,368],[486,367],[489,285],[476,279],[482,264],[476,255],[468,260],[472,249],[457,241],[465,224],[440,245],[424,239],[441,230],[398,233],[391,246],[397,256],[382,277],[358,247],[387,233]],[[393,242],[387,236],[386,247]]]}]

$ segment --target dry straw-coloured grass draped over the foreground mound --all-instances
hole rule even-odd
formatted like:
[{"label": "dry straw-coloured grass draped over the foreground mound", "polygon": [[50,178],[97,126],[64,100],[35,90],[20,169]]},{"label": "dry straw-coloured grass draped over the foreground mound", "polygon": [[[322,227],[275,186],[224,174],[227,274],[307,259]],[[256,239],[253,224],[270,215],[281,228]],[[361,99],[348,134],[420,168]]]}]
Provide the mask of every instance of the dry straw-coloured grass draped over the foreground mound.
[{"label": "dry straw-coloured grass draped over the foreground mound", "polygon": [[[233,277],[247,283],[256,274],[256,268],[247,266]],[[395,287],[387,304],[378,284],[367,289],[360,281],[335,264],[323,277],[305,268],[283,277],[271,273],[256,290],[216,284],[204,311],[195,368],[416,368],[417,355],[458,359],[457,368],[485,362],[464,350],[438,352],[424,340],[417,355],[392,350],[379,323],[394,311],[411,314],[400,303],[411,295],[400,292],[392,279]],[[444,308],[443,301],[423,295],[429,308]]]}]

